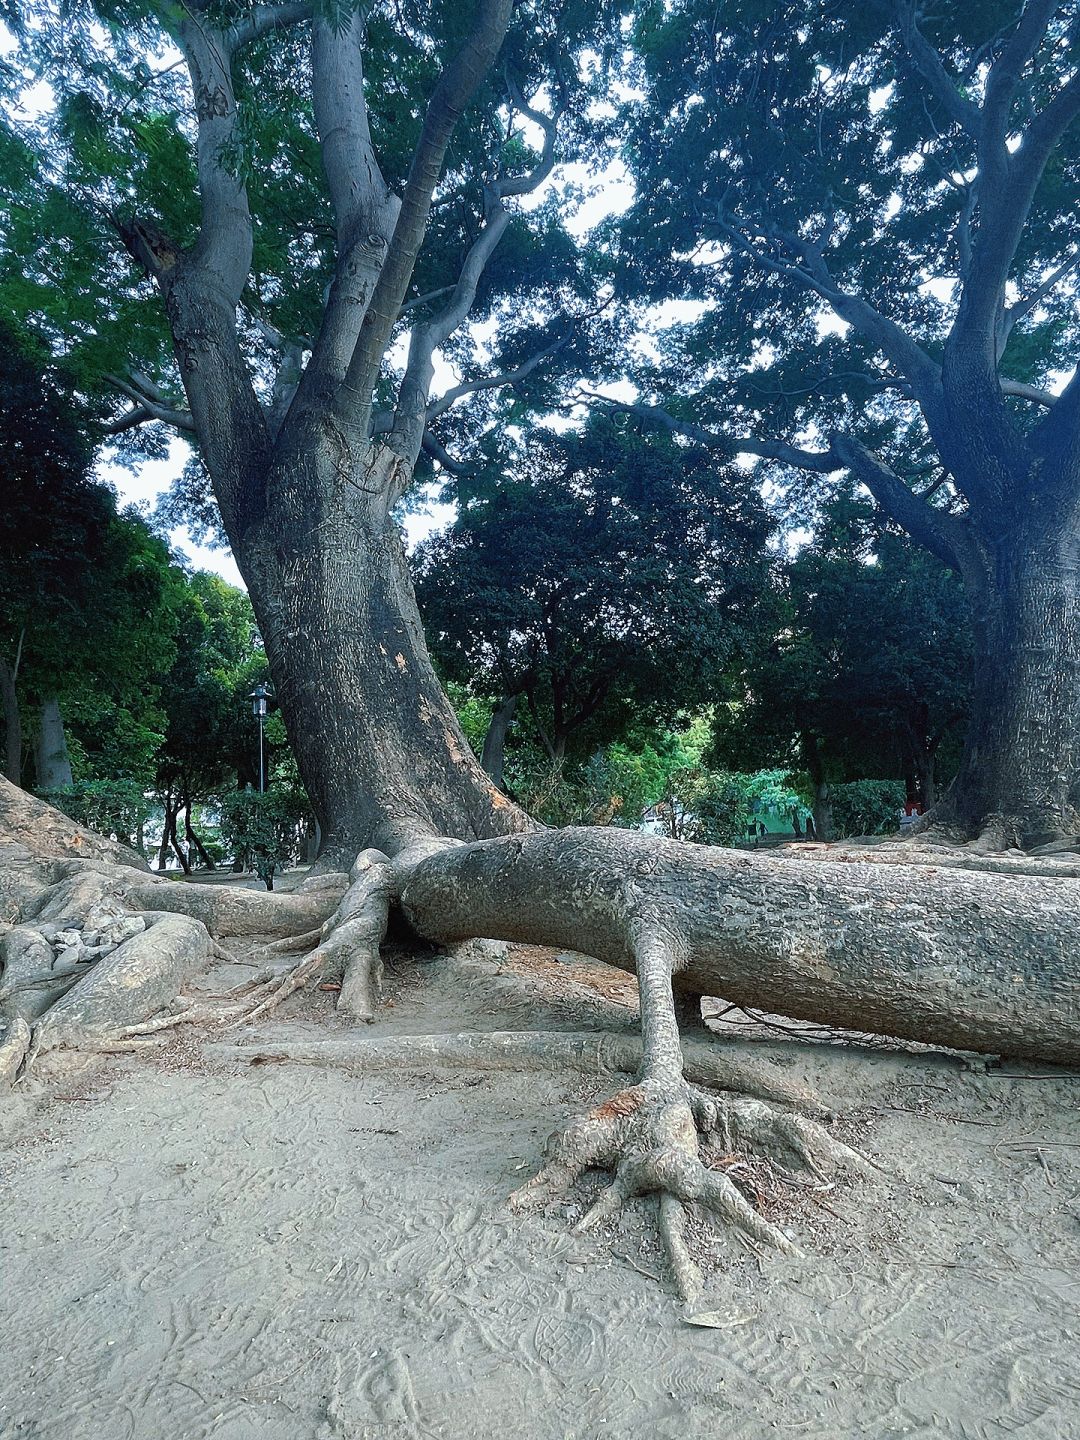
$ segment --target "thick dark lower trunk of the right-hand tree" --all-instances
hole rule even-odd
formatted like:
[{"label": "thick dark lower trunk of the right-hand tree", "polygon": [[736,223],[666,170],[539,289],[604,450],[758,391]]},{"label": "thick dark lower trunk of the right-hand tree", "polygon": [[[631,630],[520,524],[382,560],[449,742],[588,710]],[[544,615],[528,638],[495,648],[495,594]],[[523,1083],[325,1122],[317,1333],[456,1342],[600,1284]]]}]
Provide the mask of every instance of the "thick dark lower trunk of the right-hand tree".
[{"label": "thick dark lower trunk of the right-hand tree", "polygon": [[943,816],[1031,848],[1080,837],[1080,564],[1074,541],[1032,534],[965,576],[975,624],[975,697]]}]

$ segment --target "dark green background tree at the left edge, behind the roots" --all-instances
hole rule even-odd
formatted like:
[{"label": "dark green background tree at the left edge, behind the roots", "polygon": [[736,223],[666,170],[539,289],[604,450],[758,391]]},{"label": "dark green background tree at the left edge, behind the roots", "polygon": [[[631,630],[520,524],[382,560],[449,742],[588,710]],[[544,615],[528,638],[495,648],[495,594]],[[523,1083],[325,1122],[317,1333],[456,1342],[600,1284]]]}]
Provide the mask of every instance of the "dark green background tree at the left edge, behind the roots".
[{"label": "dark green background tree at the left edge, behind the roots", "polygon": [[39,789],[71,785],[69,740],[81,778],[147,780],[180,573],[95,478],[92,415],[72,376],[10,328],[0,331],[0,396],[6,773],[19,782],[23,772],[26,711]]}]

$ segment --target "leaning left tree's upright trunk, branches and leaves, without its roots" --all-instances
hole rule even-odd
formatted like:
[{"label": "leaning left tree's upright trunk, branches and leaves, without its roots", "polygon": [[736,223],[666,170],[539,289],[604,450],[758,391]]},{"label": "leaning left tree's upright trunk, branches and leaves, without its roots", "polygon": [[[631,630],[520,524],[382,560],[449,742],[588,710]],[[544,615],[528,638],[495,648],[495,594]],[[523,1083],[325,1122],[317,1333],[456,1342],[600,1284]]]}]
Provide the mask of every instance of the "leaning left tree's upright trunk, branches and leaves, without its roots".
[{"label": "leaning left tree's upright trunk, branches and leaves, without its roots", "polygon": [[[491,363],[431,397],[438,353],[469,357],[467,315],[521,312],[514,291],[528,294],[539,242],[562,243],[550,213],[526,222],[518,202],[549,176],[560,127],[580,122],[588,95],[569,55],[602,43],[600,17],[573,3],[543,16],[524,7],[495,69],[513,9],[151,6],[112,17],[121,37],[105,59],[89,29],[76,39],[45,20],[26,32],[62,88],[49,138],[66,193],[91,187],[153,279],[184,387],[186,406],[160,354],[157,374],[144,373],[147,341],[112,376],[131,406],[111,429],[171,423],[197,442],[337,854],[429,828],[471,837],[523,824],[472,762],[435,681],[393,520],[425,446],[445,456],[438,420],[465,396],[524,383],[567,343],[560,312],[586,289],[569,262],[562,275],[550,266]],[[92,9],[79,14],[89,26]],[[137,42],[183,56],[194,153],[186,98],[132,71]],[[524,98],[544,88],[547,111]],[[289,147],[305,157],[308,220],[278,206],[275,166]],[[184,202],[194,186],[196,213]],[[516,264],[500,275],[490,262],[504,236]],[[145,294],[141,304],[160,314]],[[112,330],[108,305],[95,328]],[[148,328],[144,318],[137,336]],[[387,356],[403,337],[395,373]],[[115,338],[98,348],[115,357]],[[92,350],[82,347],[86,366]]]}]

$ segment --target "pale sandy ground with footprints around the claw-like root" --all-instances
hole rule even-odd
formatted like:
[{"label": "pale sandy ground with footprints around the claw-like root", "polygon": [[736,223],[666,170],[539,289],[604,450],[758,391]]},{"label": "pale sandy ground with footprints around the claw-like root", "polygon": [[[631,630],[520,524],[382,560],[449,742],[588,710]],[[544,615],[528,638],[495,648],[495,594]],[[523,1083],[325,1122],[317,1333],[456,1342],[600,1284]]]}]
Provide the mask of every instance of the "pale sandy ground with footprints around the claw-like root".
[{"label": "pale sandy ground with footprints around the claw-like root", "polygon": [[[259,1034],[341,1032],[331,1005]],[[625,976],[520,950],[392,962],[379,1028],[634,1018]],[[703,1228],[711,1326],[652,1201],[599,1237],[570,1233],[588,1187],[505,1208],[611,1080],[240,1066],[186,1028],[33,1081],[0,1117],[0,1436],[1080,1436],[1080,1077],[753,1034],[893,1174],[759,1174],[805,1259]]]}]

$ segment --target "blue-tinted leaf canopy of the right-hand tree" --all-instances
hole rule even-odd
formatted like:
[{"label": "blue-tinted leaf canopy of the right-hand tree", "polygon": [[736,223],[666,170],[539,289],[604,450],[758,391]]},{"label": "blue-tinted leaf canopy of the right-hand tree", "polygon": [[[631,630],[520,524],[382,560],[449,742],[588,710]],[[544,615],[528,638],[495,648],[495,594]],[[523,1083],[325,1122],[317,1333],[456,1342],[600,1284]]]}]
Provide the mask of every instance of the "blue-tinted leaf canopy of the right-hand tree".
[{"label": "blue-tinted leaf canopy of the right-hand tree", "polygon": [[[825,0],[636,6],[638,89],[624,111],[636,200],[612,243],[629,295],[697,302],[675,314],[655,364],[639,367],[644,389],[720,432],[804,444],[845,431],[909,485],[940,478],[893,356],[880,353],[880,333],[845,297],[865,297],[940,357],[973,239],[972,206],[978,230],[998,196],[978,193],[972,135],[906,53],[901,17],[909,12],[927,50],[939,52],[943,86],[978,102],[976,76],[1004,53],[1018,10],[1004,0],[936,10]],[[1017,131],[1076,66],[1067,10],[1020,76]],[[1074,135],[1076,125],[1037,189],[1011,275],[1021,295],[1071,251]],[[1058,285],[1012,330],[1002,373],[1045,383],[1071,369],[1076,341],[1073,287]],[[1027,402],[1011,406],[1021,429],[1038,419]],[[783,458],[773,472],[804,520],[834,484]],[[949,484],[933,504],[960,508]]]}]

